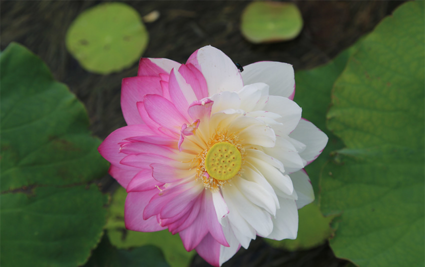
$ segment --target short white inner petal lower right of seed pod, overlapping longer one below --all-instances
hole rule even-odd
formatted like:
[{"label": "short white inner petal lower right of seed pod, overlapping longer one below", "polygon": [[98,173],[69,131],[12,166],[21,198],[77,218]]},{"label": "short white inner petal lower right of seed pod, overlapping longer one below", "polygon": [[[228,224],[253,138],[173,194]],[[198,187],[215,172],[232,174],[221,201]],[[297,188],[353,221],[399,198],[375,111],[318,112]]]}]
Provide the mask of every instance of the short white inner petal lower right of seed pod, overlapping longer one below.
[{"label": "short white inner petal lower right of seed pod, overlapping longer one below", "polygon": [[238,178],[233,181],[232,185],[237,186],[239,191],[252,203],[264,208],[273,216],[276,214],[276,204],[273,197],[258,183]]}]

